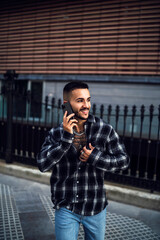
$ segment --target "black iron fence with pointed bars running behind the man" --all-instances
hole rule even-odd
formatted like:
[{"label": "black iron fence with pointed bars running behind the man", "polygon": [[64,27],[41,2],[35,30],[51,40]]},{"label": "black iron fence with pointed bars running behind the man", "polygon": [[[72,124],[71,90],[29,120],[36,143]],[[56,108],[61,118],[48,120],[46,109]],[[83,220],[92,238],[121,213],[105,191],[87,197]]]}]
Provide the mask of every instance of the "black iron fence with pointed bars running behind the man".
[{"label": "black iron fence with pointed bars running behind the man", "polygon": [[[0,94],[0,158],[36,166],[35,157],[47,132],[62,121],[62,102],[47,96],[39,103],[29,92],[22,96],[12,90]],[[160,191],[160,105],[93,104],[91,113],[116,129],[131,159],[128,170],[106,173],[106,180]]]}]

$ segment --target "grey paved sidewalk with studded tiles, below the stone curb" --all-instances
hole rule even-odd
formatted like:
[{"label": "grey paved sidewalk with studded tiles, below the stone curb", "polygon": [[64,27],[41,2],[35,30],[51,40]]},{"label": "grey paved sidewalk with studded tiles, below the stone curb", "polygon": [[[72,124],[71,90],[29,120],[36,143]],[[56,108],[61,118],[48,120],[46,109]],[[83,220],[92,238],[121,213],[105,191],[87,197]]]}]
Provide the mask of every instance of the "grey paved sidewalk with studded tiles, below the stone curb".
[{"label": "grey paved sidewalk with studded tiles, below the stone curb", "polygon": [[[0,174],[0,196],[0,239],[55,239],[49,185]],[[159,211],[109,201],[105,240],[160,240],[159,226]]]}]

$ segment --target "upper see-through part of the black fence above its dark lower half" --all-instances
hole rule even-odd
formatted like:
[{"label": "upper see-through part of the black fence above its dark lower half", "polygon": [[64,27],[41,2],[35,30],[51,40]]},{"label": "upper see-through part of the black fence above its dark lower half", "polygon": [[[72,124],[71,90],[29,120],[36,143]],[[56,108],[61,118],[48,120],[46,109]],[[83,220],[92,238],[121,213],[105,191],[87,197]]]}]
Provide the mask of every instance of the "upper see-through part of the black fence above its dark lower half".
[{"label": "upper see-through part of the black fence above its dark lower half", "polygon": [[[7,119],[7,99],[1,95],[0,118]],[[62,100],[45,98],[44,103],[33,101],[28,95],[13,98],[13,119],[53,126],[62,121]],[[91,113],[111,124],[121,136],[159,140],[160,105],[154,107],[104,106],[92,104]]]}]

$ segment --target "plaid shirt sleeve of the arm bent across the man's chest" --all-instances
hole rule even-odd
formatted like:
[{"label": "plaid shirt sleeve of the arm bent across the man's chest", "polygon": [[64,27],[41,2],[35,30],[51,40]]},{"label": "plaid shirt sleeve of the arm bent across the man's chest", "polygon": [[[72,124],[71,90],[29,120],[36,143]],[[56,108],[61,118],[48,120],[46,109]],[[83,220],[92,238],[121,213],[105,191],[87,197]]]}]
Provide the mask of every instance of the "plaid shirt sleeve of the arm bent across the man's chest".
[{"label": "plaid shirt sleeve of the arm bent across the man's chest", "polygon": [[125,170],[129,166],[129,156],[125,146],[120,142],[120,138],[112,128],[107,138],[104,151],[93,149],[87,161],[98,169],[114,172]]}]

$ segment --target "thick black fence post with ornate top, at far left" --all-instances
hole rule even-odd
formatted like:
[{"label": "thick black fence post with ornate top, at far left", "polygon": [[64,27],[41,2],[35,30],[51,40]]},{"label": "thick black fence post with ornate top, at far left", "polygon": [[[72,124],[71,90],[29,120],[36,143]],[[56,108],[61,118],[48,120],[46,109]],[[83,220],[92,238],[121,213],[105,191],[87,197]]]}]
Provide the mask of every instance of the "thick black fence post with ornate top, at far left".
[{"label": "thick black fence post with ornate top, at far left", "polygon": [[7,144],[5,159],[6,163],[12,163],[12,118],[13,118],[13,89],[14,80],[18,77],[15,70],[7,70],[4,74],[7,96]]}]

